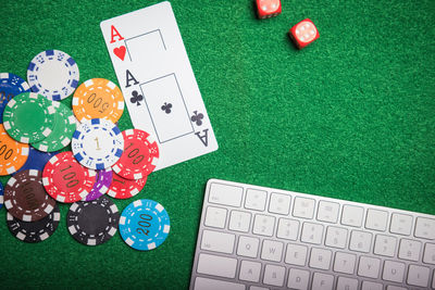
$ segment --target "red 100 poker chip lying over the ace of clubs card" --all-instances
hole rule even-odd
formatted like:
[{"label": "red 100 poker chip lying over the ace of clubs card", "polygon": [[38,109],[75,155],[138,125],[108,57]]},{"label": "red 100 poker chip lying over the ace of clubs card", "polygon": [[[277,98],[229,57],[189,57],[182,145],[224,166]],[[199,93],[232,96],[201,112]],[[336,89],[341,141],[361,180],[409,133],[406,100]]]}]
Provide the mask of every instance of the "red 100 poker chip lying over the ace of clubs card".
[{"label": "red 100 poker chip lying over the ace of clubs card", "polygon": [[128,129],[122,133],[124,137],[124,153],[112,166],[120,176],[127,179],[141,179],[148,176],[159,161],[159,147],[152,137],[139,129]]}]

